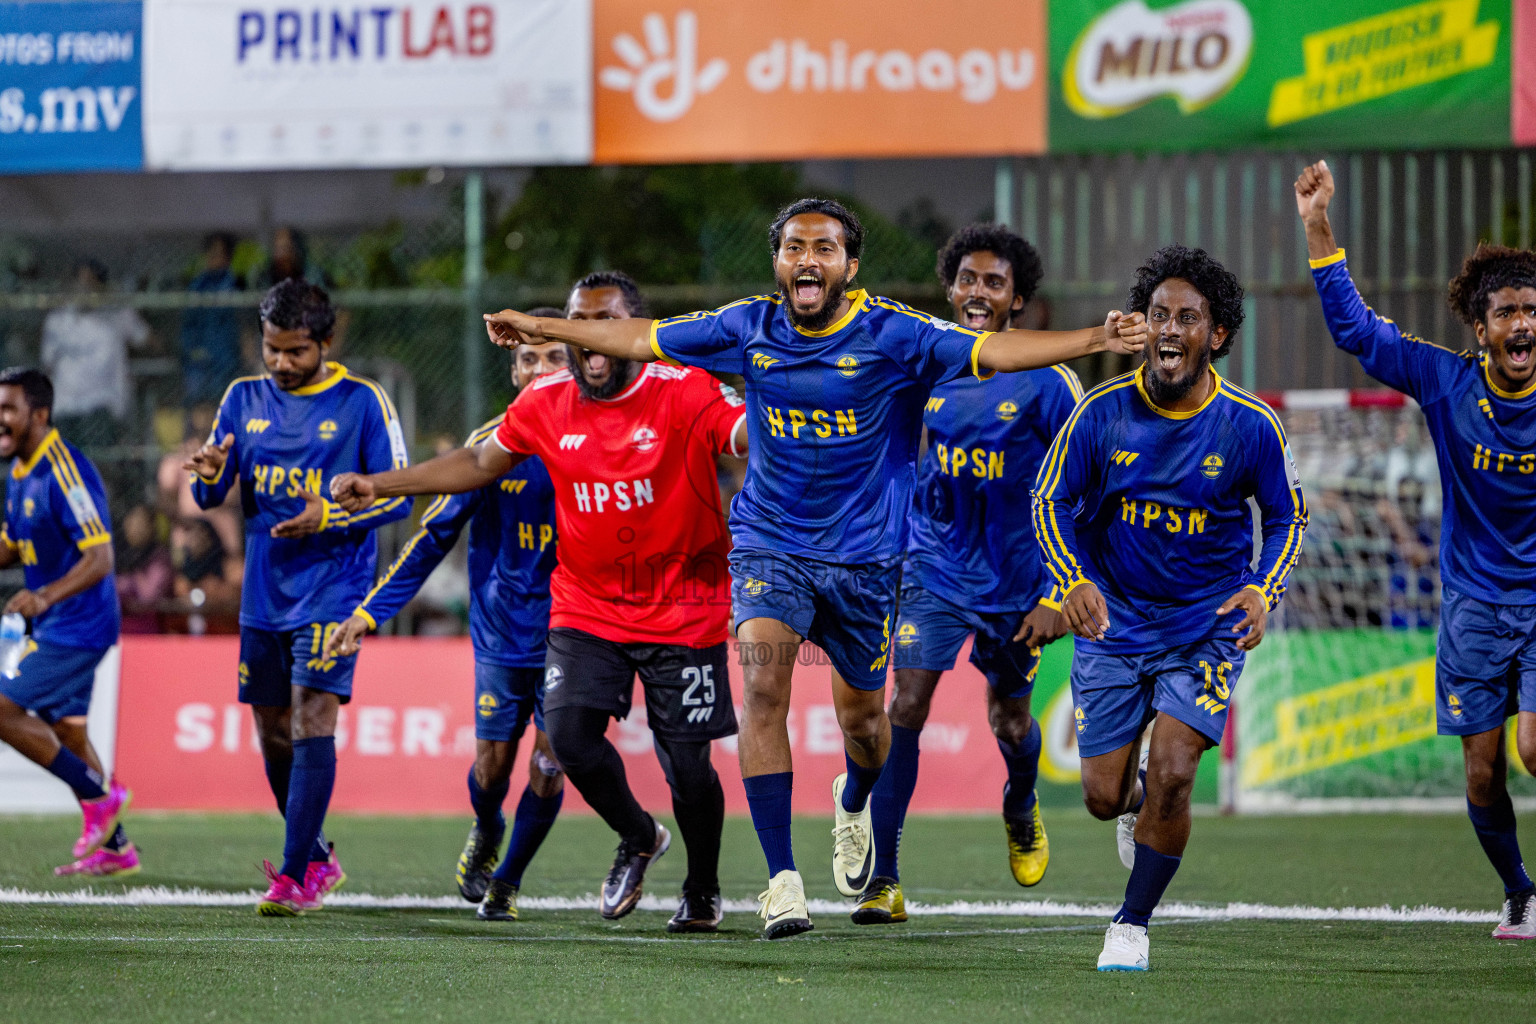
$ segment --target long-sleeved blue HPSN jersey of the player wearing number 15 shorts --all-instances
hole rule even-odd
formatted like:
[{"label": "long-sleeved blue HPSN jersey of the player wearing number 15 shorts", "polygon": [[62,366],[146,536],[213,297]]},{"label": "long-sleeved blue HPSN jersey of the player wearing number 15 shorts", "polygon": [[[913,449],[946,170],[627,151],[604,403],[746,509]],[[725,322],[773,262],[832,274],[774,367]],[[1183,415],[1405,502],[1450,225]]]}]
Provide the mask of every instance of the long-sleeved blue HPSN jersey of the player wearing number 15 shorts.
[{"label": "long-sleeved blue HPSN jersey of the player wearing number 15 shorts", "polygon": [[[1152,404],[1146,367],[1089,391],[1035,481],[1035,533],[1063,594],[1094,582],[1103,645],[1146,654],[1232,637],[1217,608],[1240,588],[1273,608],[1301,551],[1307,505],[1273,410],[1212,372],[1192,411]],[[1253,499],[1263,548],[1253,563]]]}]

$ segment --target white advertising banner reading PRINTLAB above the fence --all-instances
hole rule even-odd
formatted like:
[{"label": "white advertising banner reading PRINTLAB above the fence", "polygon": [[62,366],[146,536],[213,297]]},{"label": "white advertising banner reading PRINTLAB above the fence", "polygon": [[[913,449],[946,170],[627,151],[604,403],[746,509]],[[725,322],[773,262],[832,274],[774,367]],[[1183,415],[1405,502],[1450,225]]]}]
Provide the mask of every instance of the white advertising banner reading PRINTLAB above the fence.
[{"label": "white advertising banner reading PRINTLAB above the fence", "polygon": [[151,169],[590,160],[590,0],[144,3]]}]

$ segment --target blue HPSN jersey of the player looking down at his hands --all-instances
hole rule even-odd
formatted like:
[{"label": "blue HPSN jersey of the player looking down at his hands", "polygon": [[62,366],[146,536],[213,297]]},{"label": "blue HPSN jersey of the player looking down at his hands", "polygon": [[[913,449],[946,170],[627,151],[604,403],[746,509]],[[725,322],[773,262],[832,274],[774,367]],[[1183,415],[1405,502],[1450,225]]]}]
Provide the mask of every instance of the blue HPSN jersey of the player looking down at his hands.
[{"label": "blue HPSN jersey of the player looking down at his hands", "polygon": [[[224,391],[212,444],[235,436],[223,470],[192,477],[203,508],[224,500],[238,481],[246,513],[246,579],[240,623],[300,629],[341,622],[373,585],[373,530],[410,514],[406,497],[347,513],[326,497],[339,473],[382,473],[407,465],[406,438],[389,396],[341,364],[326,364],[318,384],[284,391],[270,378],[241,378]],[[303,491],[326,497],[321,528],[280,539],[272,527],[304,511]]]}]

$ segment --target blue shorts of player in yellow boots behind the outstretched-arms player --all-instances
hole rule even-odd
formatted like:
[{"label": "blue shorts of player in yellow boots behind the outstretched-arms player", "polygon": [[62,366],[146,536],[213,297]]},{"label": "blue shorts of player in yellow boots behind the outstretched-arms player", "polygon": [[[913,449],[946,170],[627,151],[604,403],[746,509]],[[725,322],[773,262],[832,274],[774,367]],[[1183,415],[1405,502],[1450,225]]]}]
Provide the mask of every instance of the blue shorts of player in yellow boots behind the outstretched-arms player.
[{"label": "blue shorts of player in yellow boots behind the outstretched-arms player", "polygon": [[1014,642],[1023,619],[1021,611],[971,611],[922,586],[903,586],[894,665],[948,672],[966,637],[975,634],[971,663],[986,676],[986,685],[998,697],[1023,700],[1034,692],[1040,671],[1040,648]]}]

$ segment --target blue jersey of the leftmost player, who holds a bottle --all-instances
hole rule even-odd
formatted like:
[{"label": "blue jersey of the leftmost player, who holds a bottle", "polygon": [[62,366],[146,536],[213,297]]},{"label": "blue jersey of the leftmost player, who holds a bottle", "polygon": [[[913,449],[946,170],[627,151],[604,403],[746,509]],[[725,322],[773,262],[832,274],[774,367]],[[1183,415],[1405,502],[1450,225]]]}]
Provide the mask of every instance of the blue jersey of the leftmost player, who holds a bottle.
[{"label": "blue jersey of the leftmost player, who holds a bottle", "polygon": [[[49,430],[26,462],[11,464],[0,536],[22,560],[26,588],[61,579],[81,551],[112,543],[101,476],[80,450]],[[32,639],[69,648],[103,649],[117,643],[121,613],[112,573],[58,602],[32,623]]]}]

